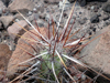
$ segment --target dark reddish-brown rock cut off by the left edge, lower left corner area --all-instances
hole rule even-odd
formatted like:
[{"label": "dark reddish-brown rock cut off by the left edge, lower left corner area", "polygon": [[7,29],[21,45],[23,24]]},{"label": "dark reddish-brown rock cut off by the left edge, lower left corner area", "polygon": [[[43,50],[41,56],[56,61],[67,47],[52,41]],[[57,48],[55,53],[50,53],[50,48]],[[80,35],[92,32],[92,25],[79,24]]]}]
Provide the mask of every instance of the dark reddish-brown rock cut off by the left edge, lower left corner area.
[{"label": "dark reddish-brown rock cut off by the left edge, lower left corner area", "polygon": [[10,51],[9,46],[4,43],[1,43],[0,44],[0,76],[4,75],[12,51]]}]

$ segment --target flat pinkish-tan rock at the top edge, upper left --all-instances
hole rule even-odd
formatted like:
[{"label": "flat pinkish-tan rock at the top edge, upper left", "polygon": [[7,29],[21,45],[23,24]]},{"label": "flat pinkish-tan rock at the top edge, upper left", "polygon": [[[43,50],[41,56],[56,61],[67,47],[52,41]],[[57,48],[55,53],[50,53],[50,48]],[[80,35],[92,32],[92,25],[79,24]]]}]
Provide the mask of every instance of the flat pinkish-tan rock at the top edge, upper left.
[{"label": "flat pinkish-tan rock at the top edge, upper left", "polygon": [[11,4],[9,4],[9,10],[11,12],[16,12],[19,11],[32,11],[34,8],[34,3],[31,0],[14,0]]}]

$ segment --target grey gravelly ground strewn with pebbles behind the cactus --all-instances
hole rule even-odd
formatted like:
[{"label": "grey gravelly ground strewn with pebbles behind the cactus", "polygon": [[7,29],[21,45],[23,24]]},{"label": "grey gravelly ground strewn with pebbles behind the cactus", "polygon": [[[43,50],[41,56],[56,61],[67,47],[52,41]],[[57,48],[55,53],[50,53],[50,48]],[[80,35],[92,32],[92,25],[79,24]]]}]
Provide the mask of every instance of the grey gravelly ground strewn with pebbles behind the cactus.
[{"label": "grey gravelly ground strewn with pebbles behind the cactus", "polygon": [[[0,33],[1,33],[1,39],[0,41],[3,42],[7,39],[16,39],[16,34],[22,34],[22,29],[20,28],[14,28],[15,24],[13,21],[21,22],[20,24],[22,27],[26,27],[28,23],[22,22],[23,18],[16,12],[16,10],[20,10],[26,19],[29,19],[33,24],[35,24],[35,20],[37,20],[38,27],[47,27],[47,21],[51,19],[50,14],[53,17],[54,21],[57,23],[59,15],[61,15],[61,10],[63,7],[63,2],[59,0],[55,1],[50,1],[50,0],[32,0],[31,3],[26,1],[14,1],[12,2],[9,0],[9,6],[7,8],[6,2],[1,1],[0,2]],[[87,34],[91,35],[96,31],[99,31],[103,29],[105,27],[110,24],[110,4],[109,2],[98,2],[98,1],[92,1],[88,2],[85,7],[80,2],[76,3],[75,7],[75,12],[73,14],[73,18],[70,20],[70,24],[73,23],[74,19],[76,18],[76,23],[74,25],[73,32],[78,30],[80,27],[82,27],[82,31],[78,37],[81,37],[85,31],[87,31]],[[22,7],[21,7],[22,6]],[[66,2],[65,11],[63,14],[63,20],[61,22],[61,28],[64,27],[70,8],[73,3]],[[50,21],[51,23],[51,21]],[[8,32],[8,33],[7,33]],[[8,37],[8,34],[10,37]],[[15,42],[15,41],[14,41]]]}]

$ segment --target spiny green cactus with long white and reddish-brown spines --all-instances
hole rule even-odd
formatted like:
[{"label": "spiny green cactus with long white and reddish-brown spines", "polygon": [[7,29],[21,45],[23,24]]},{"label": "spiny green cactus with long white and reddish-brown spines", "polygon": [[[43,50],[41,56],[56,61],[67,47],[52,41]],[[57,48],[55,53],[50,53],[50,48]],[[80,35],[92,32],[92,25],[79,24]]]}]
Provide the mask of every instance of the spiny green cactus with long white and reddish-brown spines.
[{"label": "spiny green cactus with long white and reddish-brown spines", "polygon": [[[100,35],[95,38],[91,41],[88,41],[86,44],[81,44],[81,45],[80,45],[80,43],[82,41],[87,40],[89,37],[85,38],[85,35],[84,35],[82,38],[72,41],[70,38],[73,35],[75,35],[77,32],[79,32],[79,30],[80,30],[79,29],[75,33],[70,34],[70,31],[73,29],[75,21],[73,22],[70,28],[68,27],[72,15],[74,13],[75,3],[72,8],[72,11],[69,13],[69,17],[67,19],[67,22],[66,22],[64,29],[62,31],[59,31],[59,23],[62,20],[64,8],[65,8],[65,4],[63,7],[59,22],[57,23],[57,25],[55,25],[53,19],[52,19],[53,24],[50,25],[50,23],[48,23],[48,27],[46,28],[46,31],[45,31],[46,35],[41,33],[41,30],[37,27],[37,23],[36,23],[37,28],[35,28],[34,25],[32,25],[32,23],[26,18],[23,17],[23,14],[21,14],[18,11],[23,17],[23,19],[34,30],[34,33],[33,33],[32,31],[26,31],[24,29],[26,32],[30,33],[31,38],[33,38],[34,40],[30,40],[28,38],[22,38],[22,37],[21,38],[28,39],[30,41],[34,41],[34,42],[36,42],[36,44],[38,43],[38,46],[41,45],[41,46],[43,46],[43,49],[40,50],[38,55],[31,54],[30,52],[24,50],[26,53],[29,53],[33,58],[19,63],[19,65],[24,64],[26,62],[31,62],[32,60],[36,60],[36,62],[34,64],[32,64],[32,66],[30,66],[26,71],[21,73],[19,76],[13,79],[9,83],[13,83],[14,81],[18,81],[18,80],[19,80],[19,82],[22,83],[22,82],[26,82],[28,80],[32,80],[32,79],[36,79],[36,82],[40,82],[40,83],[70,83],[70,82],[77,83],[77,82],[80,82],[79,79],[81,76],[84,76],[84,74],[87,70],[91,70],[95,73],[97,73],[98,75],[101,75],[101,76],[108,79],[107,76],[102,75],[101,73],[99,73],[99,72],[95,71],[94,69],[89,68],[88,65],[84,64],[78,59],[68,55],[68,53],[67,53],[68,50],[72,49],[70,52],[78,53],[84,46],[86,46],[88,43],[90,43],[95,39],[99,38]],[[38,37],[38,38],[34,38],[34,37]],[[34,48],[32,46],[32,49],[34,49]],[[69,64],[69,62],[72,62],[73,64]],[[77,69],[78,65],[86,68],[86,71],[79,72]],[[72,73],[72,70],[73,70],[73,73]],[[88,79],[90,82],[94,81],[94,79],[90,79],[90,77],[88,77]],[[108,80],[110,80],[110,79],[108,79]]]}]

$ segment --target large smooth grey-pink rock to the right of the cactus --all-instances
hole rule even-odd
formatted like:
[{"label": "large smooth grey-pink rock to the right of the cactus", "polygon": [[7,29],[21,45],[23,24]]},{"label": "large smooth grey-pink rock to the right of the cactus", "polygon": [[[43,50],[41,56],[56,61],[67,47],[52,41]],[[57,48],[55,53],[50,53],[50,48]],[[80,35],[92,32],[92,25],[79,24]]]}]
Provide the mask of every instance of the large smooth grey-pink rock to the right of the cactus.
[{"label": "large smooth grey-pink rock to the right of the cactus", "polygon": [[[108,31],[108,32],[106,32]],[[97,32],[91,39],[103,33],[100,38],[96,39],[82,49],[80,55],[84,62],[95,69],[101,69],[105,74],[110,75],[110,25]]]}]

